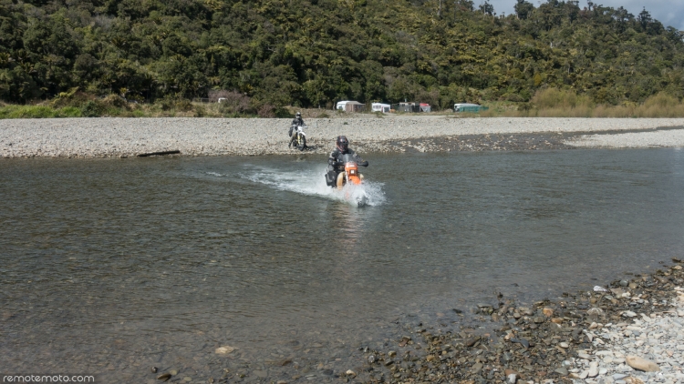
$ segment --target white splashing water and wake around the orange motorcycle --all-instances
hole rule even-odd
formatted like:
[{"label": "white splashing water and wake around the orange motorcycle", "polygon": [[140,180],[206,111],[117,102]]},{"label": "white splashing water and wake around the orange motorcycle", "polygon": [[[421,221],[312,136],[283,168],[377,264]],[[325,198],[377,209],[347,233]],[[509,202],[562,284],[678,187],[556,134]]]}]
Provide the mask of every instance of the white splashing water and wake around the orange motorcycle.
[{"label": "white splashing water and wake around the orange motorcycle", "polygon": [[240,177],[276,189],[332,198],[358,207],[379,206],[385,202],[382,183],[364,181],[360,186],[345,186],[337,189],[326,186],[325,173],[326,167],[296,171],[256,167],[252,171],[240,174]]}]

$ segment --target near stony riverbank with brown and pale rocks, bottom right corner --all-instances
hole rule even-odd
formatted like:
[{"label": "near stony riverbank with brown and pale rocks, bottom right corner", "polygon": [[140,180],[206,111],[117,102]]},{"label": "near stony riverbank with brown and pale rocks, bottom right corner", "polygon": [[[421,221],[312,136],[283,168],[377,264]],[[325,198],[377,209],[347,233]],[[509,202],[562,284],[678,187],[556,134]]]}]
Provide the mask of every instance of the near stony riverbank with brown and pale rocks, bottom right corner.
[{"label": "near stony riverbank with brown and pale rocks, bottom right corner", "polygon": [[682,383],[682,284],[676,265],[533,306],[500,296],[498,305],[477,309],[492,330],[452,333],[417,324],[385,350],[365,349],[361,381]]}]

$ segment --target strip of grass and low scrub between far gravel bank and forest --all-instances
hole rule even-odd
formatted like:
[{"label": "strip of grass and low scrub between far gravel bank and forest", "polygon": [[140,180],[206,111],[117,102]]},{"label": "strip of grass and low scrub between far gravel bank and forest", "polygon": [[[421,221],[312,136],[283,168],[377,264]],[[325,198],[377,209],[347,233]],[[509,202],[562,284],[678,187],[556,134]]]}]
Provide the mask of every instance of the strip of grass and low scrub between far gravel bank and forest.
[{"label": "strip of grass and low scrub between far gravel bank and forest", "polygon": [[[128,102],[116,95],[103,98],[78,93],[60,94],[49,102],[17,106],[0,104],[0,118],[47,117],[292,117],[301,111],[305,118],[366,117],[383,115],[366,111],[359,114],[316,108],[288,106],[250,106],[249,100],[235,96],[229,103],[194,103],[181,98],[164,98],[154,103]],[[572,90],[546,88],[538,91],[529,103],[508,101],[483,102],[489,109],[477,114],[454,114],[451,109],[427,115],[461,117],[684,117],[684,102],[660,93],[643,103],[625,102],[620,106],[596,104],[588,96]],[[399,113],[399,115],[404,115]],[[425,115],[425,114],[406,114]]]}]

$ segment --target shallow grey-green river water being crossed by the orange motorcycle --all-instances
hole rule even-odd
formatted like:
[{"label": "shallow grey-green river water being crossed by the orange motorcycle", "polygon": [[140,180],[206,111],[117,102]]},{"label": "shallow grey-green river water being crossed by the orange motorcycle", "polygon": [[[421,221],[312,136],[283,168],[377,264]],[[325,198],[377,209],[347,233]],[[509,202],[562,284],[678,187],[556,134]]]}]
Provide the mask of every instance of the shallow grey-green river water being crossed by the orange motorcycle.
[{"label": "shallow grey-green river water being crossed by the orange motorcycle", "polygon": [[319,156],[0,162],[0,373],[326,382],[498,292],[682,256],[684,151],[368,160],[366,207]]}]

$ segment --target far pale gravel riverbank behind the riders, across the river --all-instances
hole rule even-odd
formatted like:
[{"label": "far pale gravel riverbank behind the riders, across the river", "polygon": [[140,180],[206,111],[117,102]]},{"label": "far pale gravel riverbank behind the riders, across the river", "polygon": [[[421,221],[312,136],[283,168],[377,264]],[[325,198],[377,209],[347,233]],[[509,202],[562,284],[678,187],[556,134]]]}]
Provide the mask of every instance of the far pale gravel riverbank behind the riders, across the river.
[{"label": "far pale gravel riverbank behind the riders, across the river", "polygon": [[[682,118],[460,118],[349,116],[308,119],[308,153],[338,135],[359,152],[684,147]],[[65,118],[0,121],[0,157],[133,157],[292,154],[289,119]],[[665,127],[665,129],[662,129]]]}]

